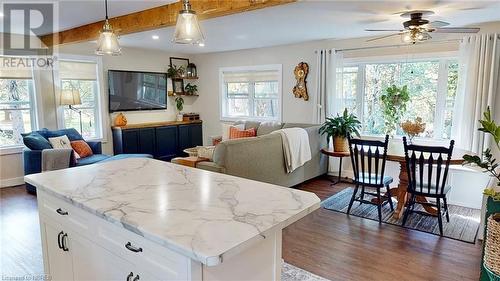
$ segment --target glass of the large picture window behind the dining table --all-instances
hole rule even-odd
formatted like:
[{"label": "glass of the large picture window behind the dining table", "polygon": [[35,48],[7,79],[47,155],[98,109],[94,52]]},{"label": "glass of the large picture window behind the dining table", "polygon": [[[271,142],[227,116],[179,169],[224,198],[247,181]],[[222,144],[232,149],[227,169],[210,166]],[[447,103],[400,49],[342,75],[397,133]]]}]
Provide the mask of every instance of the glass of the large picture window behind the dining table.
[{"label": "glass of the large picture window behind the dining table", "polygon": [[[380,95],[395,84],[407,85],[411,96],[402,121],[421,117],[426,123],[423,137],[450,138],[458,80],[455,58],[349,63],[339,77],[342,105],[361,117],[364,134],[384,134]],[[400,128],[396,133],[403,135]]]}]

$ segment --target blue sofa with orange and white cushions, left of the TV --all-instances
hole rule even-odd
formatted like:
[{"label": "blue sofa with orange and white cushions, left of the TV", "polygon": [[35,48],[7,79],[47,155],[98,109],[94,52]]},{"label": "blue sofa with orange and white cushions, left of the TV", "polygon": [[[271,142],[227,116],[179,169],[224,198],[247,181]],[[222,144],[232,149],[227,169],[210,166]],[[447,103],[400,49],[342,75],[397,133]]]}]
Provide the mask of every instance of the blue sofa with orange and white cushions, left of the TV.
[{"label": "blue sofa with orange and white cushions, left of the TV", "polygon": [[[48,139],[63,135],[68,136],[70,141],[83,140],[83,137],[74,128],[55,131],[44,128],[39,131],[23,134],[23,141],[26,146],[23,150],[24,175],[40,173],[42,171],[42,150],[52,149],[52,146],[48,143]],[[102,161],[112,161],[130,157],[153,158],[153,156],[149,154],[120,154],[110,156],[102,154],[101,142],[87,141],[87,143],[92,149],[93,155],[80,158],[78,160],[74,160],[72,157],[70,167],[84,166]],[[29,193],[36,194],[36,188],[28,183],[26,183],[26,190]]]}]

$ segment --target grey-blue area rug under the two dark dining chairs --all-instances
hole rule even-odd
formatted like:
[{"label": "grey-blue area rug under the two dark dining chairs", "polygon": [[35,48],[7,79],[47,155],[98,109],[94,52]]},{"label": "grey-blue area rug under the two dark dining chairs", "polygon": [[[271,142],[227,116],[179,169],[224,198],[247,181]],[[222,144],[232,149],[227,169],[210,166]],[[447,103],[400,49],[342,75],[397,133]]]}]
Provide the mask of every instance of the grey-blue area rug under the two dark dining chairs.
[{"label": "grey-blue area rug under the two dark dining chairs", "polygon": [[[323,201],[321,205],[328,210],[347,213],[349,201],[353,192],[354,188],[348,187],[329,197]],[[394,198],[393,200],[395,201]],[[394,202],[394,207],[396,207],[396,202]],[[468,243],[475,243],[477,231],[479,229],[481,210],[451,204],[448,204],[448,208],[450,212],[450,222],[446,222],[446,218],[443,216],[443,236]],[[423,209],[421,205],[417,204],[415,205],[415,210]],[[382,207],[382,221],[388,224],[402,226],[403,218],[395,219],[392,214],[393,212],[389,204],[385,204]],[[354,202],[351,209],[351,215],[378,221],[376,205]],[[405,227],[439,235],[439,225],[436,217],[412,213],[408,217]]]}]

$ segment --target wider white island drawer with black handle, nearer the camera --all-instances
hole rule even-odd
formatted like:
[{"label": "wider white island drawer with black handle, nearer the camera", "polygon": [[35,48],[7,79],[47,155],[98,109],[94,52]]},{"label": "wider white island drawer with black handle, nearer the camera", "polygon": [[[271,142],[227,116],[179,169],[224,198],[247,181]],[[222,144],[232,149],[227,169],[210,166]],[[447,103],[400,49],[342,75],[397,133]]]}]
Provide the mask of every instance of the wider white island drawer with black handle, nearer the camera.
[{"label": "wider white island drawer with black handle, nearer the camera", "polygon": [[189,258],[108,223],[98,229],[101,246],[134,263],[137,272],[153,272],[161,280],[187,280]]}]

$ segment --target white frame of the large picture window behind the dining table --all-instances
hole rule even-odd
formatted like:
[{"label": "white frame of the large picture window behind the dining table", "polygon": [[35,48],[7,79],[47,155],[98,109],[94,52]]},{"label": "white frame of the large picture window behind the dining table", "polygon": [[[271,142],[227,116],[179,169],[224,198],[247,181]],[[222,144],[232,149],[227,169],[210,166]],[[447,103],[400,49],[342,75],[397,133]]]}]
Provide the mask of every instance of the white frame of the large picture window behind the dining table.
[{"label": "white frame of the large picture window behind the dining table", "polygon": [[[358,57],[358,58],[345,58],[342,68],[345,67],[358,67],[357,72],[357,85],[356,85],[356,112],[362,124],[365,124],[364,114],[364,97],[365,97],[365,80],[366,80],[366,65],[367,64],[391,64],[391,63],[404,63],[404,62],[425,62],[425,61],[438,61],[438,81],[436,89],[436,107],[434,109],[434,132],[433,138],[417,137],[419,141],[429,144],[446,144],[449,139],[442,138],[444,130],[444,114],[446,110],[446,96],[448,93],[448,66],[450,60],[458,61],[458,51],[448,52],[433,52],[433,53],[419,53],[419,54],[404,54],[404,55],[388,55],[378,57]],[[343,73],[343,71],[341,72]],[[445,78],[441,78],[445,77]],[[361,132],[363,137],[383,139],[382,135],[367,134]],[[395,135],[395,139],[402,139],[402,136]]]}]

